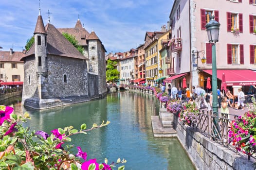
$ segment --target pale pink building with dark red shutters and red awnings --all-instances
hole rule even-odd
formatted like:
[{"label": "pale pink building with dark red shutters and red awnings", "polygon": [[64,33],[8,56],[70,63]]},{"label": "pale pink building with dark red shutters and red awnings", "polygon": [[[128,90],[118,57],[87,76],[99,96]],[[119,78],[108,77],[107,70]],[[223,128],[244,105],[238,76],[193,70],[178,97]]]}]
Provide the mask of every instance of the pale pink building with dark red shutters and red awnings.
[{"label": "pale pink building with dark red shutters and red awnings", "polygon": [[169,16],[171,77],[166,81],[181,86],[185,77],[190,89],[192,85],[206,88],[207,77],[211,77],[212,45],[205,25],[211,15],[220,23],[218,86],[225,73],[228,88],[243,85],[246,91],[256,85],[256,0],[175,0]]}]

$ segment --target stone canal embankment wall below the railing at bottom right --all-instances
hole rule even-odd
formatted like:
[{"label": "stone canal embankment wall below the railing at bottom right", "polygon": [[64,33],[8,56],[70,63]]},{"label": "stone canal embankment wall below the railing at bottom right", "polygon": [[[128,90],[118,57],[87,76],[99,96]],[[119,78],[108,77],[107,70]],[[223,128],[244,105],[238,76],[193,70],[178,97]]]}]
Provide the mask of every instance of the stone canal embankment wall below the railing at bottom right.
[{"label": "stone canal embankment wall below the railing at bottom right", "polygon": [[174,118],[179,141],[197,169],[255,170],[253,162],[248,161],[247,156],[239,155],[196,132],[192,127],[183,125],[176,115]]}]

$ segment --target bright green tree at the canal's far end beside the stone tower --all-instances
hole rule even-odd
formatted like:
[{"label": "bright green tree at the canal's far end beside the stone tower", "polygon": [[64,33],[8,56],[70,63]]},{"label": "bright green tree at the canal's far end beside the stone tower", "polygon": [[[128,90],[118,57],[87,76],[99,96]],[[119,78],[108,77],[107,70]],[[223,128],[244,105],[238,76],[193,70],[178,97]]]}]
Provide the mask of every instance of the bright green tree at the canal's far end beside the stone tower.
[{"label": "bright green tree at the canal's far end beside the stone tower", "polygon": [[115,65],[117,65],[116,61],[111,61],[110,59],[107,60],[106,79],[107,81],[113,81],[113,83],[114,79],[119,78],[119,71],[115,69]]}]

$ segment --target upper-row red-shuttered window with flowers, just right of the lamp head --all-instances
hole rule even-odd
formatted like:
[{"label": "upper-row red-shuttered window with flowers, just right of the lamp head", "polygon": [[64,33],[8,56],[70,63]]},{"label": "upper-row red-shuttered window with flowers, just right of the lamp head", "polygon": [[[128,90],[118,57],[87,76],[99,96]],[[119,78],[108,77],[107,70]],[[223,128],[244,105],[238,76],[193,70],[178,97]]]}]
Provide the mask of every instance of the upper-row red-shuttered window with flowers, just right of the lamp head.
[{"label": "upper-row red-shuttered window with flowers, just right of the lamp head", "polygon": [[243,14],[227,12],[227,31],[232,33],[243,32]]}]

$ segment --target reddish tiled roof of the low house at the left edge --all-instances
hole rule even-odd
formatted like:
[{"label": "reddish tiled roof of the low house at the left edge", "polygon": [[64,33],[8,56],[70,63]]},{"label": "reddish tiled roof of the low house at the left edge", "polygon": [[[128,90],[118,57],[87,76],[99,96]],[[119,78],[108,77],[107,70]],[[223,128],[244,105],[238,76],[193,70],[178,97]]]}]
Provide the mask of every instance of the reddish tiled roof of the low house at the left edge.
[{"label": "reddish tiled roof of the low house at the left edge", "polygon": [[0,51],[0,62],[23,62],[20,59],[24,56],[23,52],[13,51],[11,55],[10,51]]}]

